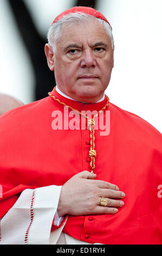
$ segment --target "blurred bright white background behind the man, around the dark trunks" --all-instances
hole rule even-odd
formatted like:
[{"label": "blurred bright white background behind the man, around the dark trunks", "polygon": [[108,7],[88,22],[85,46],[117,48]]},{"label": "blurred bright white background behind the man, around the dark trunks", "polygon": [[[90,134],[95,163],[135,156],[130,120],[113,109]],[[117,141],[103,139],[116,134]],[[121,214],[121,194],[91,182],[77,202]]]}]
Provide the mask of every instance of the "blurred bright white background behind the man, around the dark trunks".
[{"label": "blurred bright white background behind the man, around the dark trunks", "polygon": [[[73,0],[24,0],[40,34]],[[106,90],[115,105],[144,118],[160,132],[162,1],[99,0],[96,9],[113,27],[114,69]],[[34,71],[6,0],[0,1],[0,92],[34,100]]]}]

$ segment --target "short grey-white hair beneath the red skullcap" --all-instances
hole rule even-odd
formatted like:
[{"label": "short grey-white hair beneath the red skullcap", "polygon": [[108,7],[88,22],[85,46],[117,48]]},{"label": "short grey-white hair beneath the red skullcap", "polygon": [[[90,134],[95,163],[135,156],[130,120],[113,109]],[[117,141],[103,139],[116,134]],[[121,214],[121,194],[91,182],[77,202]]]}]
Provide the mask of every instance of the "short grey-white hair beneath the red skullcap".
[{"label": "short grey-white hair beneath the red skullcap", "polygon": [[54,52],[56,51],[56,42],[59,39],[59,36],[61,34],[61,28],[64,25],[65,22],[68,22],[68,25],[74,25],[74,24],[81,24],[81,25],[85,25],[86,21],[92,20],[94,21],[97,20],[101,26],[103,26],[106,31],[107,34],[109,35],[111,42],[112,42],[112,47],[114,47],[114,39],[113,39],[113,34],[112,34],[112,28],[111,26],[104,20],[101,20],[99,18],[96,18],[92,15],[89,14],[85,14],[85,13],[71,13],[68,15],[65,15],[62,19],[58,20],[57,22],[55,22],[48,31],[47,34],[47,39],[48,39],[48,43],[49,45],[51,45],[53,47]]}]

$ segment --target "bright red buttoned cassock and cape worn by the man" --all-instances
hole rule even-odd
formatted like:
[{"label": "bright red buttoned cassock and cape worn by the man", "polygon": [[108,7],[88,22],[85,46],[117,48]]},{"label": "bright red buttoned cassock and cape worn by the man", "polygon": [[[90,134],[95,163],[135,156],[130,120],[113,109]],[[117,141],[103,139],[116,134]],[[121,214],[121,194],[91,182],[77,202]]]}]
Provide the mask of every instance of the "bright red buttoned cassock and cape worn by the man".
[{"label": "bright red buttoned cassock and cape worn by the man", "polygon": [[[99,111],[106,104],[106,98],[86,104],[66,99],[55,89],[52,94],[79,111]],[[161,133],[113,103],[107,110],[109,134],[95,130],[96,179],[125,192],[125,205],[114,215],[69,216],[63,231],[89,243],[161,244]],[[0,217],[26,188],[63,185],[82,170],[90,171],[89,130],[54,130],[54,111],[63,114],[63,105],[46,97],[0,118]],[[55,228],[53,224],[51,230]]]}]

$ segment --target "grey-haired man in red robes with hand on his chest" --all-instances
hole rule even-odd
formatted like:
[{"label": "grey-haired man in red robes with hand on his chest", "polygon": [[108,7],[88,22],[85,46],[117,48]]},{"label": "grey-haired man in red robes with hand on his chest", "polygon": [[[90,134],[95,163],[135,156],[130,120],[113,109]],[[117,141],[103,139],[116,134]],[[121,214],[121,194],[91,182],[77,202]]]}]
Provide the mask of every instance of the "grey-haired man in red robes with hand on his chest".
[{"label": "grey-haired man in red robes with hand on his chest", "polygon": [[160,244],[161,133],[105,95],[106,17],[64,11],[45,52],[56,88],[1,118],[1,243]]}]

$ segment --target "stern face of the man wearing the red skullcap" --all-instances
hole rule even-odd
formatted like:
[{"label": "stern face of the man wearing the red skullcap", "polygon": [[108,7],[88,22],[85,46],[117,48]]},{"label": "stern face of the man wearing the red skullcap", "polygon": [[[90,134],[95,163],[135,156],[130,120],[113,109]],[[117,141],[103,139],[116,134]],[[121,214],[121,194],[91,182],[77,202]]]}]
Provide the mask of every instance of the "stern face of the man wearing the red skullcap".
[{"label": "stern face of the man wearing the red skullcap", "polygon": [[111,39],[98,21],[64,26],[52,60],[50,69],[61,92],[89,103],[101,99],[114,58]]}]

